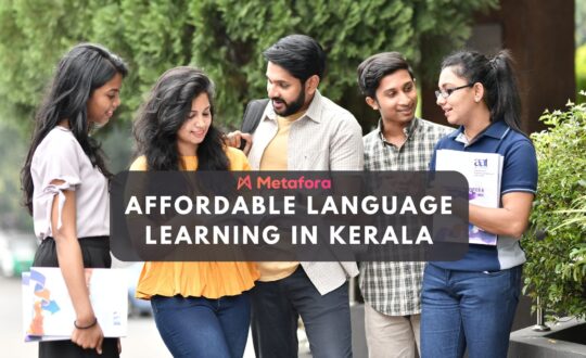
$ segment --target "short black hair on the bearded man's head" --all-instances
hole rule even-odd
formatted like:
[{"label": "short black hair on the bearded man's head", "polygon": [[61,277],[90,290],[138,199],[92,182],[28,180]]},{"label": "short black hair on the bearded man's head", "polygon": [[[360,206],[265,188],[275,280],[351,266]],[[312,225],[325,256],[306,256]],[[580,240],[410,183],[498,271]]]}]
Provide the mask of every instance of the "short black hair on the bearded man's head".
[{"label": "short black hair on the bearded man's head", "polygon": [[289,35],[281,38],[263,52],[267,61],[286,69],[293,77],[305,84],[317,75],[323,79],[326,53],[315,39],[306,35]]}]

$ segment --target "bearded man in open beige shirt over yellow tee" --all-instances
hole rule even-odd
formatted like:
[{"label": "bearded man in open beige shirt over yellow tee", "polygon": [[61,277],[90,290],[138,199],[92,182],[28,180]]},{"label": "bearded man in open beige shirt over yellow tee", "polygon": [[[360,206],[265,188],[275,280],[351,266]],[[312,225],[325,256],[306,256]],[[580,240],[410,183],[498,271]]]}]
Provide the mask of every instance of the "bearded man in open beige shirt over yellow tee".
[{"label": "bearded man in open beige shirt over yellow tee", "polygon": [[[247,139],[251,167],[362,170],[360,126],[317,89],[326,67],[321,46],[308,36],[291,35],[264,55],[269,102],[253,136],[232,136],[237,142]],[[297,357],[300,316],[315,358],[352,357],[347,279],[358,274],[356,263],[258,265],[260,279],[251,295],[257,357]]]}]

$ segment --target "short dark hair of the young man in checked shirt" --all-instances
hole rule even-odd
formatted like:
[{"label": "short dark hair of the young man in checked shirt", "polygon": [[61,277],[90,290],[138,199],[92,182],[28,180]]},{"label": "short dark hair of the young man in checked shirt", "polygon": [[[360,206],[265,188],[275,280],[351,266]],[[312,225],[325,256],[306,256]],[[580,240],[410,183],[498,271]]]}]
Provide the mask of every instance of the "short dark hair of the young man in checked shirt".
[{"label": "short dark hair of the young man in checked shirt", "polygon": [[399,69],[406,69],[415,80],[413,71],[398,52],[381,52],[371,55],[358,65],[358,87],[365,97],[377,98],[381,80]]}]

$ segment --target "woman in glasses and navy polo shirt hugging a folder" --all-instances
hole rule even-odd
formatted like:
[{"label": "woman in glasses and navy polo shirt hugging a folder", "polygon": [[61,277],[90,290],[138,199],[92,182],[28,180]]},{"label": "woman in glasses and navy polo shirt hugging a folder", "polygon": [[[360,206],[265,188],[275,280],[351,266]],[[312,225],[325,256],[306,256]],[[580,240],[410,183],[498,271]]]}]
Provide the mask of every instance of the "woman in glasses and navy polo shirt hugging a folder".
[{"label": "woman in glasses and navy polo shirt hugging a folder", "polygon": [[[520,129],[511,57],[460,51],[442,63],[437,105],[459,130],[437,150],[502,157],[500,206],[469,205],[469,221],[498,235],[496,246],[470,244],[457,261],[432,261],[422,290],[422,357],[506,357],[525,255],[519,245],[537,188],[537,159]],[[435,158],[430,167],[435,170]]]}]

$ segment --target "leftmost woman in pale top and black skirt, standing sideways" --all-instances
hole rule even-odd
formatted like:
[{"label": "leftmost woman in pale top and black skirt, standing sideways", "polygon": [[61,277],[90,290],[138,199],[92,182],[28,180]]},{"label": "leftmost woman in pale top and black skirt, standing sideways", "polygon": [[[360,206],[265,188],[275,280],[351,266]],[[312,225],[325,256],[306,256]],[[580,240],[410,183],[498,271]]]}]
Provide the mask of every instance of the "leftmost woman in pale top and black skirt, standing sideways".
[{"label": "leftmost woman in pale top and black skirt, standing sideways", "polygon": [[125,63],[105,48],[81,43],[61,59],[35,117],[22,170],[25,204],[41,244],[33,266],[60,267],[76,312],[71,341],[39,343],[39,357],[118,357],[104,338],[84,274],[110,268],[109,178],[99,143],[90,137],[120,105]]}]

